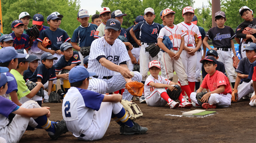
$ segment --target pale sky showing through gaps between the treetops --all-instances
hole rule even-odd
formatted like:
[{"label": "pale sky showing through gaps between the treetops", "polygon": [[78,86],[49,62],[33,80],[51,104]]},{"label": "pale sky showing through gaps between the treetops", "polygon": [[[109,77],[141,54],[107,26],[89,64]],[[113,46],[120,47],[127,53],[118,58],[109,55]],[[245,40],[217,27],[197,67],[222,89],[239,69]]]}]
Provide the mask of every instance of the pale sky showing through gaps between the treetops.
[{"label": "pale sky showing through gaps between the treetops", "polygon": [[[207,0],[194,0],[194,8],[208,6]],[[86,9],[90,15],[95,14],[96,10],[101,8],[102,0],[80,0],[81,9]]]}]

